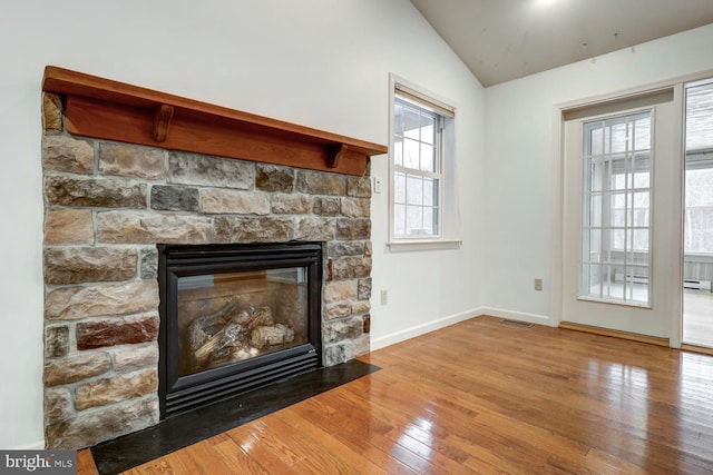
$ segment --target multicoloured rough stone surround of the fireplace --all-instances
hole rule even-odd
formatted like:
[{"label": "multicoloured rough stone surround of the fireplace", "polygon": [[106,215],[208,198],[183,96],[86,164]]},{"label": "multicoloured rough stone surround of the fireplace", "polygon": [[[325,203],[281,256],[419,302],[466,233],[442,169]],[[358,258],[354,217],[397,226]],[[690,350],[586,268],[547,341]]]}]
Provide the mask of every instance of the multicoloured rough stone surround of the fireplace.
[{"label": "multicoloured rough stone surround of the fireplace", "polygon": [[323,364],[369,352],[369,177],[72,137],[43,97],[45,434],[155,425],[157,243],[325,243]]}]

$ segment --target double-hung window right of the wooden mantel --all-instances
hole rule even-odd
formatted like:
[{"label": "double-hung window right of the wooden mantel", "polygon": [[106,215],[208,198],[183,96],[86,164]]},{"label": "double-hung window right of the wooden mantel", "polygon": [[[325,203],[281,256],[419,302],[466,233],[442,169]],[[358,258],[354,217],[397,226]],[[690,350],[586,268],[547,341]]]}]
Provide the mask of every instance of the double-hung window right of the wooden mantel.
[{"label": "double-hung window right of the wooden mantel", "polygon": [[455,108],[393,81],[391,243],[453,235]]}]

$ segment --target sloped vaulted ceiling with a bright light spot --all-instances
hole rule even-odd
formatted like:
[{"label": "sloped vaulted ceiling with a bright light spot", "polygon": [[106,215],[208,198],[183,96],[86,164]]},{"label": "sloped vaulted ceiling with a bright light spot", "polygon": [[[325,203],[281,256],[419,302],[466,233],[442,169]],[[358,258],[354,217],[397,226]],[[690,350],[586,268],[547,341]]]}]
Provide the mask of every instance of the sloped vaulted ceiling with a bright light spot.
[{"label": "sloped vaulted ceiling with a bright light spot", "polygon": [[636,44],[713,23],[713,0],[411,3],[484,86],[585,59],[596,60],[597,56],[619,49],[635,51]]}]

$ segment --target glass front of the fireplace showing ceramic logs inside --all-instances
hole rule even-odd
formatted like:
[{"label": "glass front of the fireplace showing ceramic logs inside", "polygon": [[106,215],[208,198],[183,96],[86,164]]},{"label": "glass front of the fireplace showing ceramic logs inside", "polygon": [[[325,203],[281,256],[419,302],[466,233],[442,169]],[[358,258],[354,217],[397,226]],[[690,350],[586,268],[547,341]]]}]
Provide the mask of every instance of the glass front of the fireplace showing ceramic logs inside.
[{"label": "glass front of the fireplace showing ceramic logs inside", "polygon": [[306,268],[179,277],[178,375],[307,342]]}]

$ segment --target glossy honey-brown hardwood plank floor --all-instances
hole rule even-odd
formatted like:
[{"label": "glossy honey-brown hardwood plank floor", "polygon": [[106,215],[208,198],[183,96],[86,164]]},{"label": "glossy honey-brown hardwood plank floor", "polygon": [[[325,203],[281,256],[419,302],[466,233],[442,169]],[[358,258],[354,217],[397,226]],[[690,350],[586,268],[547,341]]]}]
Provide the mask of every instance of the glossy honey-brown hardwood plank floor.
[{"label": "glossy honey-brown hardwood plank floor", "polygon": [[382,369],[127,473],[713,472],[712,356],[479,317],[363,360]]}]

